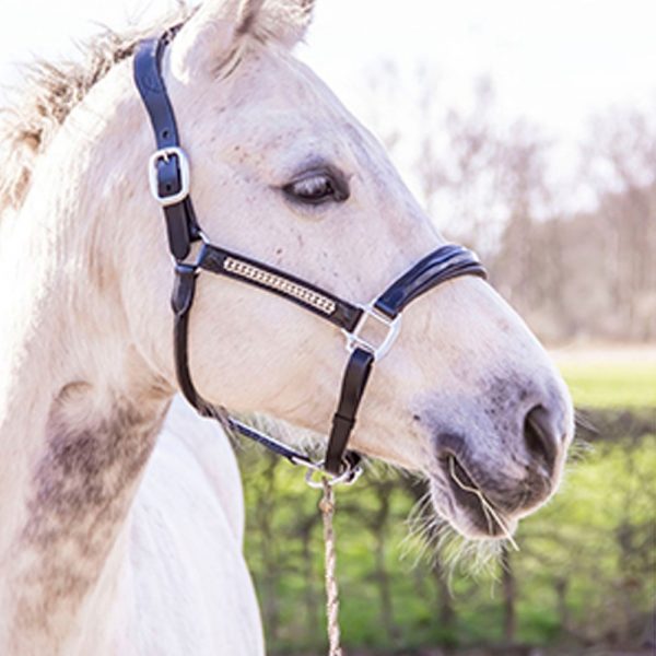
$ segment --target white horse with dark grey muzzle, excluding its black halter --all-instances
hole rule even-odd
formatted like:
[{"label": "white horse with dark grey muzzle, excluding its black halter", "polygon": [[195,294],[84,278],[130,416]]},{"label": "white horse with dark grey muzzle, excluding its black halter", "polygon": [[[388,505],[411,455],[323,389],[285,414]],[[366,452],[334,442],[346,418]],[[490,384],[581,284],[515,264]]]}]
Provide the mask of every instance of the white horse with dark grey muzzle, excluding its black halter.
[{"label": "white horse with dark grey muzzle, excluding its black halter", "polygon": [[[164,75],[210,237],[364,302],[443,242],[380,145],[290,54],[311,11],[207,0]],[[2,655],[263,653],[230,445],[181,401],[162,431],[173,274],[131,50],[46,77],[4,137]],[[320,202],[291,199],[290,184]],[[212,402],[328,424],[345,354],[309,313],[201,276],[189,348]],[[513,530],[557,489],[572,432],[542,348],[489,284],[461,278],[407,311],[353,447],[423,472],[436,512],[476,538],[492,529],[446,464]]]}]

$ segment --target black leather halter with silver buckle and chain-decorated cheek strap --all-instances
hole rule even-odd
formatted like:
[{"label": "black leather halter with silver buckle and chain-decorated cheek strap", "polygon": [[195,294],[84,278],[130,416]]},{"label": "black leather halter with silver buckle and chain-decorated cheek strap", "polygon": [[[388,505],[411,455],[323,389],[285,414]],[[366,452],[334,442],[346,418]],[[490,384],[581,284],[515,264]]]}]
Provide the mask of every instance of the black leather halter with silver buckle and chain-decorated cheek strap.
[{"label": "black leather halter with silver buckle and chain-decorated cheek strap", "polygon": [[[187,400],[203,417],[212,417],[225,427],[260,442],[295,465],[305,465],[352,480],[359,472],[360,456],[347,450],[358,408],[376,360],[393,345],[405,307],[420,295],[460,276],[485,278],[476,255],[457,245],[442,246],[424,257],[367,305],[352,304],[304,280],[257,260],[214,246],[200,230],[189,196],[189,163],[180,140],[171,101],[162,79],[161,62],[172,33],[141,43],[134,56],[134,80],[155,132],[157,151],[149,161],[149,180],[162,206],[168,246],[175,262],[172,306],[175,315],[174,349],[178,384]],[[194,251],[194,254],[192,254]],[[296,303],[340,328],[350,353],[342,379],[337,411],[323,462],[247,426],[230,417],[198,393],[188,359],[189,313],[196,280],[201,271],[226,276]],[[377,325],[377,326],[376,326]],[[368,328],[367,328],[368,326]],[[380,339],[366,337],[376,326]]]}]

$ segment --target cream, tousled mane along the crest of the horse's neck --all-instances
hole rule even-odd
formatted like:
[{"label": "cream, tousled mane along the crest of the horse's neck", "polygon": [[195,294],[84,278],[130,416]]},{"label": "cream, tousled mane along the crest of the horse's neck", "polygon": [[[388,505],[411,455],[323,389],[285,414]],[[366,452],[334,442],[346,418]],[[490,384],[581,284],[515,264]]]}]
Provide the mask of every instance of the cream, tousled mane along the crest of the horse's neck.
[{"label": "cream, tousled mane along the crest of the horse's neck", "polygon": [[23,83],[0,108],[0,216],[20,209],[37,157],[92,86],[115,65],[130,57],[147,35],[159,34],[186,21],[191,10],[180,7],[156,25],[119,34],[108,27],[79,45],[82,57],[57,63],[43,59],[23,65]]}]

